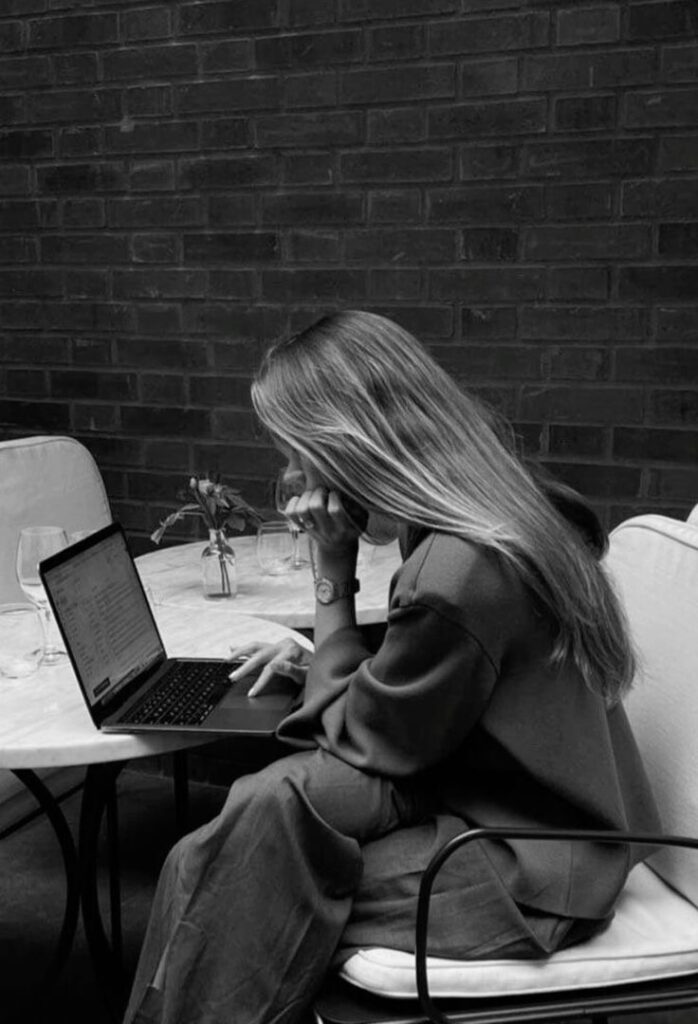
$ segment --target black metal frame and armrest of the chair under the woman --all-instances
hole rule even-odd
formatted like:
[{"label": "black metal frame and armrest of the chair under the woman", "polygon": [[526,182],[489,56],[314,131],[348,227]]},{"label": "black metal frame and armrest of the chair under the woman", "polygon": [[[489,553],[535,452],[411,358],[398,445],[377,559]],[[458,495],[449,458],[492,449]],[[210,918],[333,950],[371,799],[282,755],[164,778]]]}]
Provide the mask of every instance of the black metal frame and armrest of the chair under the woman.
[{"label": "black metal frame and armrest of the chair under the woman", "polygon": [[[680,1010],[698,1006],[698,971],[681,978],[638,981],[600,988],[566,989],[526,995],[444,998],[439,1005],[429,991],[427,940],[429,904],[436,877],[446,860],[467,843],[477,840],[537,840],[683,847],[698,850],[698,839],[655,833],[592,829],[471,828],[445,843],[427,865],[418,894],[415,966],[418,999],[393,1000],[334,983],[335,1004],[342,1012],[328,1014],[322,994],[317,1002],[328,1024],[546,1024],[579,1019],[608,1024],[610,1015]],[[331,982],[330,991],[333,983]],[[324,990],[323,990],[324,991]],[[332,1000],[330,1002],[332,1006]]]}]

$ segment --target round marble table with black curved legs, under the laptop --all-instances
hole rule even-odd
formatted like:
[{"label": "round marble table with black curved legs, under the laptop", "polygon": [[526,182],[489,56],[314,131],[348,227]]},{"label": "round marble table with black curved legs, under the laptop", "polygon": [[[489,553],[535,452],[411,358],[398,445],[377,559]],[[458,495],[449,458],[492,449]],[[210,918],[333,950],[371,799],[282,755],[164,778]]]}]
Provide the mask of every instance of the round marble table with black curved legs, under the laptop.
[{"label": "round marble table with black curved legs, under the laptop", "polygon": [[[239,614],[232,602],[202,600],[190,606],[155,608],[165,648],[172,656],[227,657],[230,645],[250,640],[273,642],[292,636],[310,648],[307,639],[268,620]],[[116,813],[115,786],[127,761],[159,754],[179,754],[215,739],[184,733],[104,733],[94,726],[68,658],[41,666],[27,679],[0,677],[0,768],[12,771],[35,796],[47,814],[60,844],[67,877],[66,911],[58,944],[44,985],[45,993],[62,968],[72,947],[80,909],[95,973],[115,1018],[125,996],[120,956],[118,870],[112,874],[112,941],[104,932],[97,899],[97,852],[101,819],[110,807]],[[76,844],[62,811],[35,769],[87,766],[79,837]],[[180,779],[181,781],[181,779]],[[185,787],[185,780],[183,782]],[[111,831],[116,864],[116,818]],[[115,928],[116,921],[116,928]],[[116,955],[115,955],[116,947]]]}]

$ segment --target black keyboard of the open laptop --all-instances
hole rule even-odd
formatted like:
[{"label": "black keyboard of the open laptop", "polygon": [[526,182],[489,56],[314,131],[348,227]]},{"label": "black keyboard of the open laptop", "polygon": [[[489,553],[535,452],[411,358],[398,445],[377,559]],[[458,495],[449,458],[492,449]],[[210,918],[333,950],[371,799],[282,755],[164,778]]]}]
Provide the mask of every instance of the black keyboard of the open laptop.
[{"label": "black keyboard of the open laptop", "polygon": [[173,665],[120,721],[126,725],[201,725],[226,693],[245,694],[250,689],[252,678],[230,682],[232,669],[230,662]]}]

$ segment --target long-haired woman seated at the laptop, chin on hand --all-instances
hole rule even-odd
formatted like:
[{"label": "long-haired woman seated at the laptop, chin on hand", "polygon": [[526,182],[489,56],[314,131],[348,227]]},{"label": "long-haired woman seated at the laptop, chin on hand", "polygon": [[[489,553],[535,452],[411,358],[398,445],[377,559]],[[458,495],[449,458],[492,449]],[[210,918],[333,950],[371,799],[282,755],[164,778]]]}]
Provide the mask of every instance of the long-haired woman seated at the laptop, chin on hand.
[{"label": "long-haired woman seated at the laptop, chin on hand", "polygon": [[[127,1020],[301,1019],[353,948],[410,949],[419,874],[467,825],[658,825],[619,703],[634,672],[595,517],[536,480],[397,325],[342,312],[274,345],[255,409],[304,487],[315,653],[250,649],[304,682],[278,736],[161,876]],[[357,537],[392,520],[403,564],[368,650]],[[234,652],[239,653],[238,651]],[[544,955],[603,928],[631,850],[471,844],[444,870],[430,949]]]}]

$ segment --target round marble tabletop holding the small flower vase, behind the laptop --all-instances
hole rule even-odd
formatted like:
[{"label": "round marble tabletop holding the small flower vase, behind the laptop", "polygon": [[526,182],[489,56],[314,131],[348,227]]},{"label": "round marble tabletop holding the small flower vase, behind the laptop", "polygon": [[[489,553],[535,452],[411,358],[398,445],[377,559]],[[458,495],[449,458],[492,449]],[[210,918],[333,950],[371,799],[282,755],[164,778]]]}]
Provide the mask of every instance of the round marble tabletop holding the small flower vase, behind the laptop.
[{"label": "round marble tabletop holding the small flower vase, behind the laptop", "polygon": [[[282,575],[267,575],[257,563],[256,543],[253,536],[230,539],[235,552],[237,596],[223,603],[236,612],[260,615],[293,629],[311,629],[315,595],[310,566]],[[140,578],[156,607],[209,608],[220,603],[207,600],[202,591],[200,562],[205,544],[205,541],[197,541],[159,548],[136,559]],[[360,542],[356,568],[361,584],[356,595],[359,626],[385,622],[390,580],[400,561],[396,541],[385,546]]]}]

